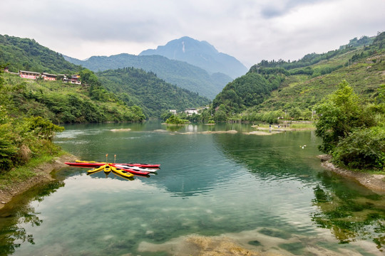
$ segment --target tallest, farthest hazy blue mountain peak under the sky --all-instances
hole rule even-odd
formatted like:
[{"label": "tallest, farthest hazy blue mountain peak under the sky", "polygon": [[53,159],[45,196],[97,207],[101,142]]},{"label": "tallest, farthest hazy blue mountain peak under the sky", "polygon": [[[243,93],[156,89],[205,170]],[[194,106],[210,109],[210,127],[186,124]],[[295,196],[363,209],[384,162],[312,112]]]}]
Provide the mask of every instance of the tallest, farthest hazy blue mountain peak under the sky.
[{"label": "tallest, farthest hazy blue mountain peak under the sky", "polygon": [[209,73],[224,73],[237,78],[247,72],[245,65],[236,58],[220,53],[206,41],[197,41],[185,36],[168,42],[165,46],[143,50],[139,55],[162,55],[170,60],[181,60]]}]

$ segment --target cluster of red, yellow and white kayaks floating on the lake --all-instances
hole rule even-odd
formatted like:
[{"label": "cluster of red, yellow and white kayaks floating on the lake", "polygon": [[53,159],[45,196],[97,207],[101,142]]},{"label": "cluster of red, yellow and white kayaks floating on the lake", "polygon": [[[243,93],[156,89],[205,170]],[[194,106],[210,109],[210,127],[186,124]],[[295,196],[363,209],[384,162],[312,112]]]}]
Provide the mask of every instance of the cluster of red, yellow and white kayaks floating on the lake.
[{"label": "cluster of red, yellow and white kayaks floating on the lake", "polygon": [[146,176],[155,173],[155,171],[160,168],[160,164],[111,164],[107,162],[79,160],[66,162],[66,164],[69,166],[93,167],[93,169],[87,171],[88,174],[94,174],[99,171],[104,171],[104,173],[109,174],[113,171],[114,174],[123,178],[131,178],[134,175]]}]

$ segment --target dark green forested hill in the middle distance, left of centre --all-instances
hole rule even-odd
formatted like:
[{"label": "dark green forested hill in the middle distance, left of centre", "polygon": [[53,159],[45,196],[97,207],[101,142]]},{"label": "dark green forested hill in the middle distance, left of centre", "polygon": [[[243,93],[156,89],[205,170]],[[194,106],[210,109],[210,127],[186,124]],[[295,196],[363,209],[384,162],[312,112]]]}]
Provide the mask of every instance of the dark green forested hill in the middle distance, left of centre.
[{"label": "dark green forested hill in the middle distance, left of centre", "polygon": [[188,107],[210,103],[196,92],[182,89],[137,68],[119,68],[98,73],[98,78],[111,92],[128,105],[139,105],[148,117],[160,117],[168,110],[178,112]]}]

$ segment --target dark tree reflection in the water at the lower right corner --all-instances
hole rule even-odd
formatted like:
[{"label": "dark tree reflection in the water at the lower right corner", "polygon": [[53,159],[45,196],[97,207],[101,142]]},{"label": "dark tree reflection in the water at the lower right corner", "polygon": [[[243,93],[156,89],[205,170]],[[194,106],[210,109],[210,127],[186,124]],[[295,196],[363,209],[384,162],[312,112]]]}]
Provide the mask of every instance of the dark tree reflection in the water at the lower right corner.
[{"label": "dark tree reflection in the water at the lower right corner", "polygon": [[312,220],[320,228],[329,228],[341,242],[353,242],[356,238],[371,239],[382,252],[385,249],[384,197],[360,188],[348,188],[327,173],[319,174],[324,187],[314,188]]}]

